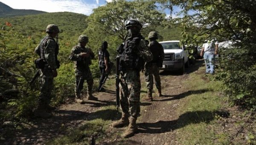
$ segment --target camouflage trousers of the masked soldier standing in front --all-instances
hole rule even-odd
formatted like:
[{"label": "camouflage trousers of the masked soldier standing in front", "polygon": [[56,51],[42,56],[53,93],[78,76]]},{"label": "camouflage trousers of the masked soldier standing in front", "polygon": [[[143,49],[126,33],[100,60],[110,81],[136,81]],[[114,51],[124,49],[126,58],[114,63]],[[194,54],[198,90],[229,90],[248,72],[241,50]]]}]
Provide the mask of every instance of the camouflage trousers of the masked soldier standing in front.
[{"label": "camouflage trousers of the masked soldier standing in front", "polygon": [[140,113],[140,72],[125,70],[121,73],[120,105],[124,113],[130,113],[137,118]]}]

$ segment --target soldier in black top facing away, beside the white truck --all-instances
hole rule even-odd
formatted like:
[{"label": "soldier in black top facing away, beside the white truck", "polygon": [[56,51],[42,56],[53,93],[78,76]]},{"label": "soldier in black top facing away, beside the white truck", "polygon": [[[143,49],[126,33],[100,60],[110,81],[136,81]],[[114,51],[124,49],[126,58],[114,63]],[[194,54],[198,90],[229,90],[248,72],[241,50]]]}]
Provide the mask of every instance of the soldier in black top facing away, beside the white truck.
[{"label": "soldier in black top facing away, beside the white truck", "polygon": [[155,31],[149,32],[148,39],[150,40],[148,47],[150,48],[150,51],[153,54],[153,60],[145,64],[145,81],[146,81],[147,90],[148,90],[146,100],[152,101],[153,100],[152,99],[153,75],[154,75],[155,85],[157,87],[157,96],[159,97],[162,96],[159,67],[162,67],[163,65],[164,52],[163,52],[163,46],[157,42],[157,39],[158,39],[157,32]]}]

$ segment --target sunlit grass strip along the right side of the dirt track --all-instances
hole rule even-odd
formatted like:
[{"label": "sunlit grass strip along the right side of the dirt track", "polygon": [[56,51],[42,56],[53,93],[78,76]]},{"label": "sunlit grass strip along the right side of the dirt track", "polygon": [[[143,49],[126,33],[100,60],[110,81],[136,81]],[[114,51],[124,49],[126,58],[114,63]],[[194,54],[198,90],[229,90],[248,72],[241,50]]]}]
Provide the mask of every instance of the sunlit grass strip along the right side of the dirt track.
[{"label": "sunlit grass strip along the right side of the dirt track", "polygon": [[216,134],[217,116],[221,111],[226,97],[220,96],[221,82],[210,81],[213,76],[205,76],[199,68],[198,73],[191,73],[186,84],[189,95],[183,99],[178,109],[177,138],[183,145],[229,144],[227,134]]}]

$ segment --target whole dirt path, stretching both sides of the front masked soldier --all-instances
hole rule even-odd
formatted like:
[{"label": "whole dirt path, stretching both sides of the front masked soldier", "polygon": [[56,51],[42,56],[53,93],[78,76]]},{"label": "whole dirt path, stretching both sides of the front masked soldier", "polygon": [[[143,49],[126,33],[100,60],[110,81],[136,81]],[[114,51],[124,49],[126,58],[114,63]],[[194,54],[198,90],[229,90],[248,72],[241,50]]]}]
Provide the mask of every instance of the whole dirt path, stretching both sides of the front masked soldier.
[{"label": "whole dirt path, stretching both sides of the front masked soldier", "polygon": [[[186,70],[187,73],[197,70],[200,65],[201,63],[198,63],[193,66],[194,70]],[[144,90],[141,96],[141,104],[146,105],[141,106],[141,116],[137,121],[139,133],[124,141],[120,136],[117,136],[118,139],[115,141],[104,141],[100,144],[113,145],[120,143],[119,141],[128,145],[177,144],[177,139],[175,138],[177,132],[175,129],[178,128],[176,122],[179,114],[177,114],[176,110],[182,104],[182,99],[189,93],[183,83],[187,78],[187,74],[161,73],[164,97],[156,97],[156,94],[153,93],[154,101],[147,102],[143,100],[145,96]],[[145,85],[144,76],[141,76],[141,82],[143,87]],[[6,139],[3,144],[41,145],[53,137],[67,134],[65,132],[67,128],[77,128],[85,120],[96,119],[101,107],[115,104],[115,87],[111,87],[104,93],[95,93],[94,96],[98,97],[99,101],[87,101],[84,104],[76,104],[74,102],[65,104],[55,110],[53,112],[54,116],[49,119],[32,119],[30,124],[25,125],[26,129],[12,134],[12,137]],[[115,129],[109,127],[108,130],[122,132],[125,128]]]}]

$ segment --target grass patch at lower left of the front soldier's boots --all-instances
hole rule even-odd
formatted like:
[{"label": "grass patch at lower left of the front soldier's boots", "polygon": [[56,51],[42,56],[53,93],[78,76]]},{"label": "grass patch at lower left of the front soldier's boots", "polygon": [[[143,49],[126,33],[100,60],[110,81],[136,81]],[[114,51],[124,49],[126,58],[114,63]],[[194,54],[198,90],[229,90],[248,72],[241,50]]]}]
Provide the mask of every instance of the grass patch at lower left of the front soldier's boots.
[{"label": "grass patch at lower left of the front soldier's boots", "polygon": [[105,138],[116,138],[119,133],[112,135],[109,126],[120,116],[120,113],[116,114],[114,105],[102,107],[88,116],[90,121],[84,121],[78,128],[68,128],[65,135],[49,140],[47,145],[91,145]]}]

